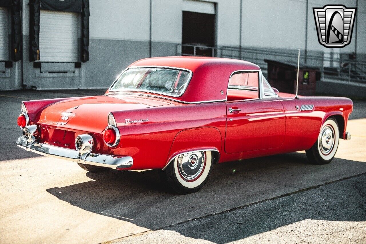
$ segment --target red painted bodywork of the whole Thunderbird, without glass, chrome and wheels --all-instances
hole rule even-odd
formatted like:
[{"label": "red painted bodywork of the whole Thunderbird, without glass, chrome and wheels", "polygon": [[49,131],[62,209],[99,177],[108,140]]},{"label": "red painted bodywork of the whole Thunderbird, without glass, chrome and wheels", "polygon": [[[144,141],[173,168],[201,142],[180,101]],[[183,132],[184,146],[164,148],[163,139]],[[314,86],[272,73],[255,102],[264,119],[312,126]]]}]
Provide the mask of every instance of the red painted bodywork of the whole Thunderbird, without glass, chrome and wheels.
[{"label": "red painted bodywork of the whole Thunderbird, without glass, chrome and wheels", "polygon": [[[188,69],[193,76],[180,97],[107,90],[105,96],[25,101],[30,123],[41,126],[41,142],[75,149],[75,138],[90,134],[93,152],[131,156],[129,169],[162,169],[193,150],[217,150],[219,162],[227,162],[309,149],[329,116],[340,116],[343,137],[352,112],[352,101],[342,97],[294,99],[278,92],[279,97],[254,99],[257,92],[228,90],[234,71],[259,70],[241,60],[163,57],[130,67],[137,66]],[[300,111],[302,105],[314,109]],[[229,108],[241,111],[229,113]],[[105,132],[110,112],[120,133],[113,148],[104,143],[115,140]]]}]

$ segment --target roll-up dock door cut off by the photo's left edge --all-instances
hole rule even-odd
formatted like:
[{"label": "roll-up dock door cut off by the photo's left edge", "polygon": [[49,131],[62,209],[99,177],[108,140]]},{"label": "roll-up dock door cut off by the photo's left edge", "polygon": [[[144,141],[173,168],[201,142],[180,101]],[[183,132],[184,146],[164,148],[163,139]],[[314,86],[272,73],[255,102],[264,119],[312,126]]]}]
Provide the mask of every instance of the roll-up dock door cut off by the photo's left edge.
[{"label": "roll-up dock door cut off by the photo's left edge", "polygon": [[9,59],[8,9],[0,7],[0,61]]}]

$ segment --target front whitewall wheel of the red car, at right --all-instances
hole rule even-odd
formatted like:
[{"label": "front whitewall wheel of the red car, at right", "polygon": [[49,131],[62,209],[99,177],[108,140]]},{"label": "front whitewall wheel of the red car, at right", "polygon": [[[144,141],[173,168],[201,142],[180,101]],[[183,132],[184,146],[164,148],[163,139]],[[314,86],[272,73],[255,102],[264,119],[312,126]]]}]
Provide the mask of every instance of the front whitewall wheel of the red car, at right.
[{"label": "front whitewall wheel of the red car, at right", "polygon": [[327,119],[321,127],[317,141],[306,150],[306,156],[312,164],[327,164],[332,161],[339,144],[339,128],[333,118]]}]

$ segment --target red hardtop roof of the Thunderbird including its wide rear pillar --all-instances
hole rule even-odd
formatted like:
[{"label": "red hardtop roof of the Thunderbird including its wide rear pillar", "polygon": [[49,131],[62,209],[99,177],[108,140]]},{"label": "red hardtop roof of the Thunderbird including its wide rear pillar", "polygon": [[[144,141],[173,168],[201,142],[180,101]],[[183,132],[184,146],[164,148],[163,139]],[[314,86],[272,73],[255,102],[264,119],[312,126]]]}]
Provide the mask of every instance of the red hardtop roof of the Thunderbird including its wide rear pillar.
[{"label": "red hardtop roof of the Thunderbird including its wide rear pillar", "polygon": [[[158,95],[185,103],[226,101],[229,79],[232,73],[241,70],[260,70],[253,63],[226,58],[173,56],[141,59],[129,68],[139,66],[161,66],[187,69],[193,72],[184,93],[178,97]],[[150,94],[157,96],[156,94]]]}]

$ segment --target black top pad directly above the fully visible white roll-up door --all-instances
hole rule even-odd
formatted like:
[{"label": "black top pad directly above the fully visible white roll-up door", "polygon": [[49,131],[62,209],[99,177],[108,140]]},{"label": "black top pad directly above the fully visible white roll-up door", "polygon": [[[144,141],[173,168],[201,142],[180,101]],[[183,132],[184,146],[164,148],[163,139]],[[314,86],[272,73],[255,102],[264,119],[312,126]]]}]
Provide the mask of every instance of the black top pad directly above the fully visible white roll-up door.
[{"label": "black top pad directly above the fully visible white roll-up door", "polygon": [[41,9],[65,12],[81,12],[82,0],[41,0]]}]

